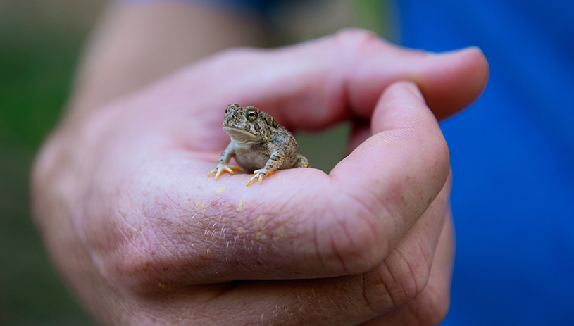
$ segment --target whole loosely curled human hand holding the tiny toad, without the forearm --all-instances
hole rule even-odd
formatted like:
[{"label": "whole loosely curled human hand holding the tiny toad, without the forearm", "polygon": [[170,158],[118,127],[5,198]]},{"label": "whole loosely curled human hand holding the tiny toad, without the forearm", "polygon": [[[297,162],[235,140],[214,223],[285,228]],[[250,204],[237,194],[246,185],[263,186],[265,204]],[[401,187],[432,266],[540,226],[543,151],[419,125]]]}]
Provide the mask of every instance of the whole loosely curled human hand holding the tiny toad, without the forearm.
[{"label": "whole loosely curled human hand holding the tiny toad, without the forearm", "polygon": [[[35,165],[37,224],[107,324],[434,324],[454,246],[435,115],[486,79],[477,49],[428,56],[361,31],[225,51],[64,123]],[[281,170],[246,188],[249,175],[206,177],[232,102],[291,130],[370,126],[329,175]]]}]

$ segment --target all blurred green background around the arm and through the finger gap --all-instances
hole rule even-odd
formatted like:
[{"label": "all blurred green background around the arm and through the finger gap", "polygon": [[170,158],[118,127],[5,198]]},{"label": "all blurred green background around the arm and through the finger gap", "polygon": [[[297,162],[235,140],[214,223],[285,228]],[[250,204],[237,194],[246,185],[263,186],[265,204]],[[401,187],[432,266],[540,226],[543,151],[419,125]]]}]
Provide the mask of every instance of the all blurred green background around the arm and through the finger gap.
[{"label": "all blurred green background around the arm and through the finger gap", "polygon": [[[0,0],[0,326],[94,325],[52,270],[30,218],[29,171],[73,84],[82,46],[106,0]],[[380,3],[316,1],[277,16],[284,42],[359,25],[382,32]],[[348,127],[299,134],[325,171],[344,154]]]}]

